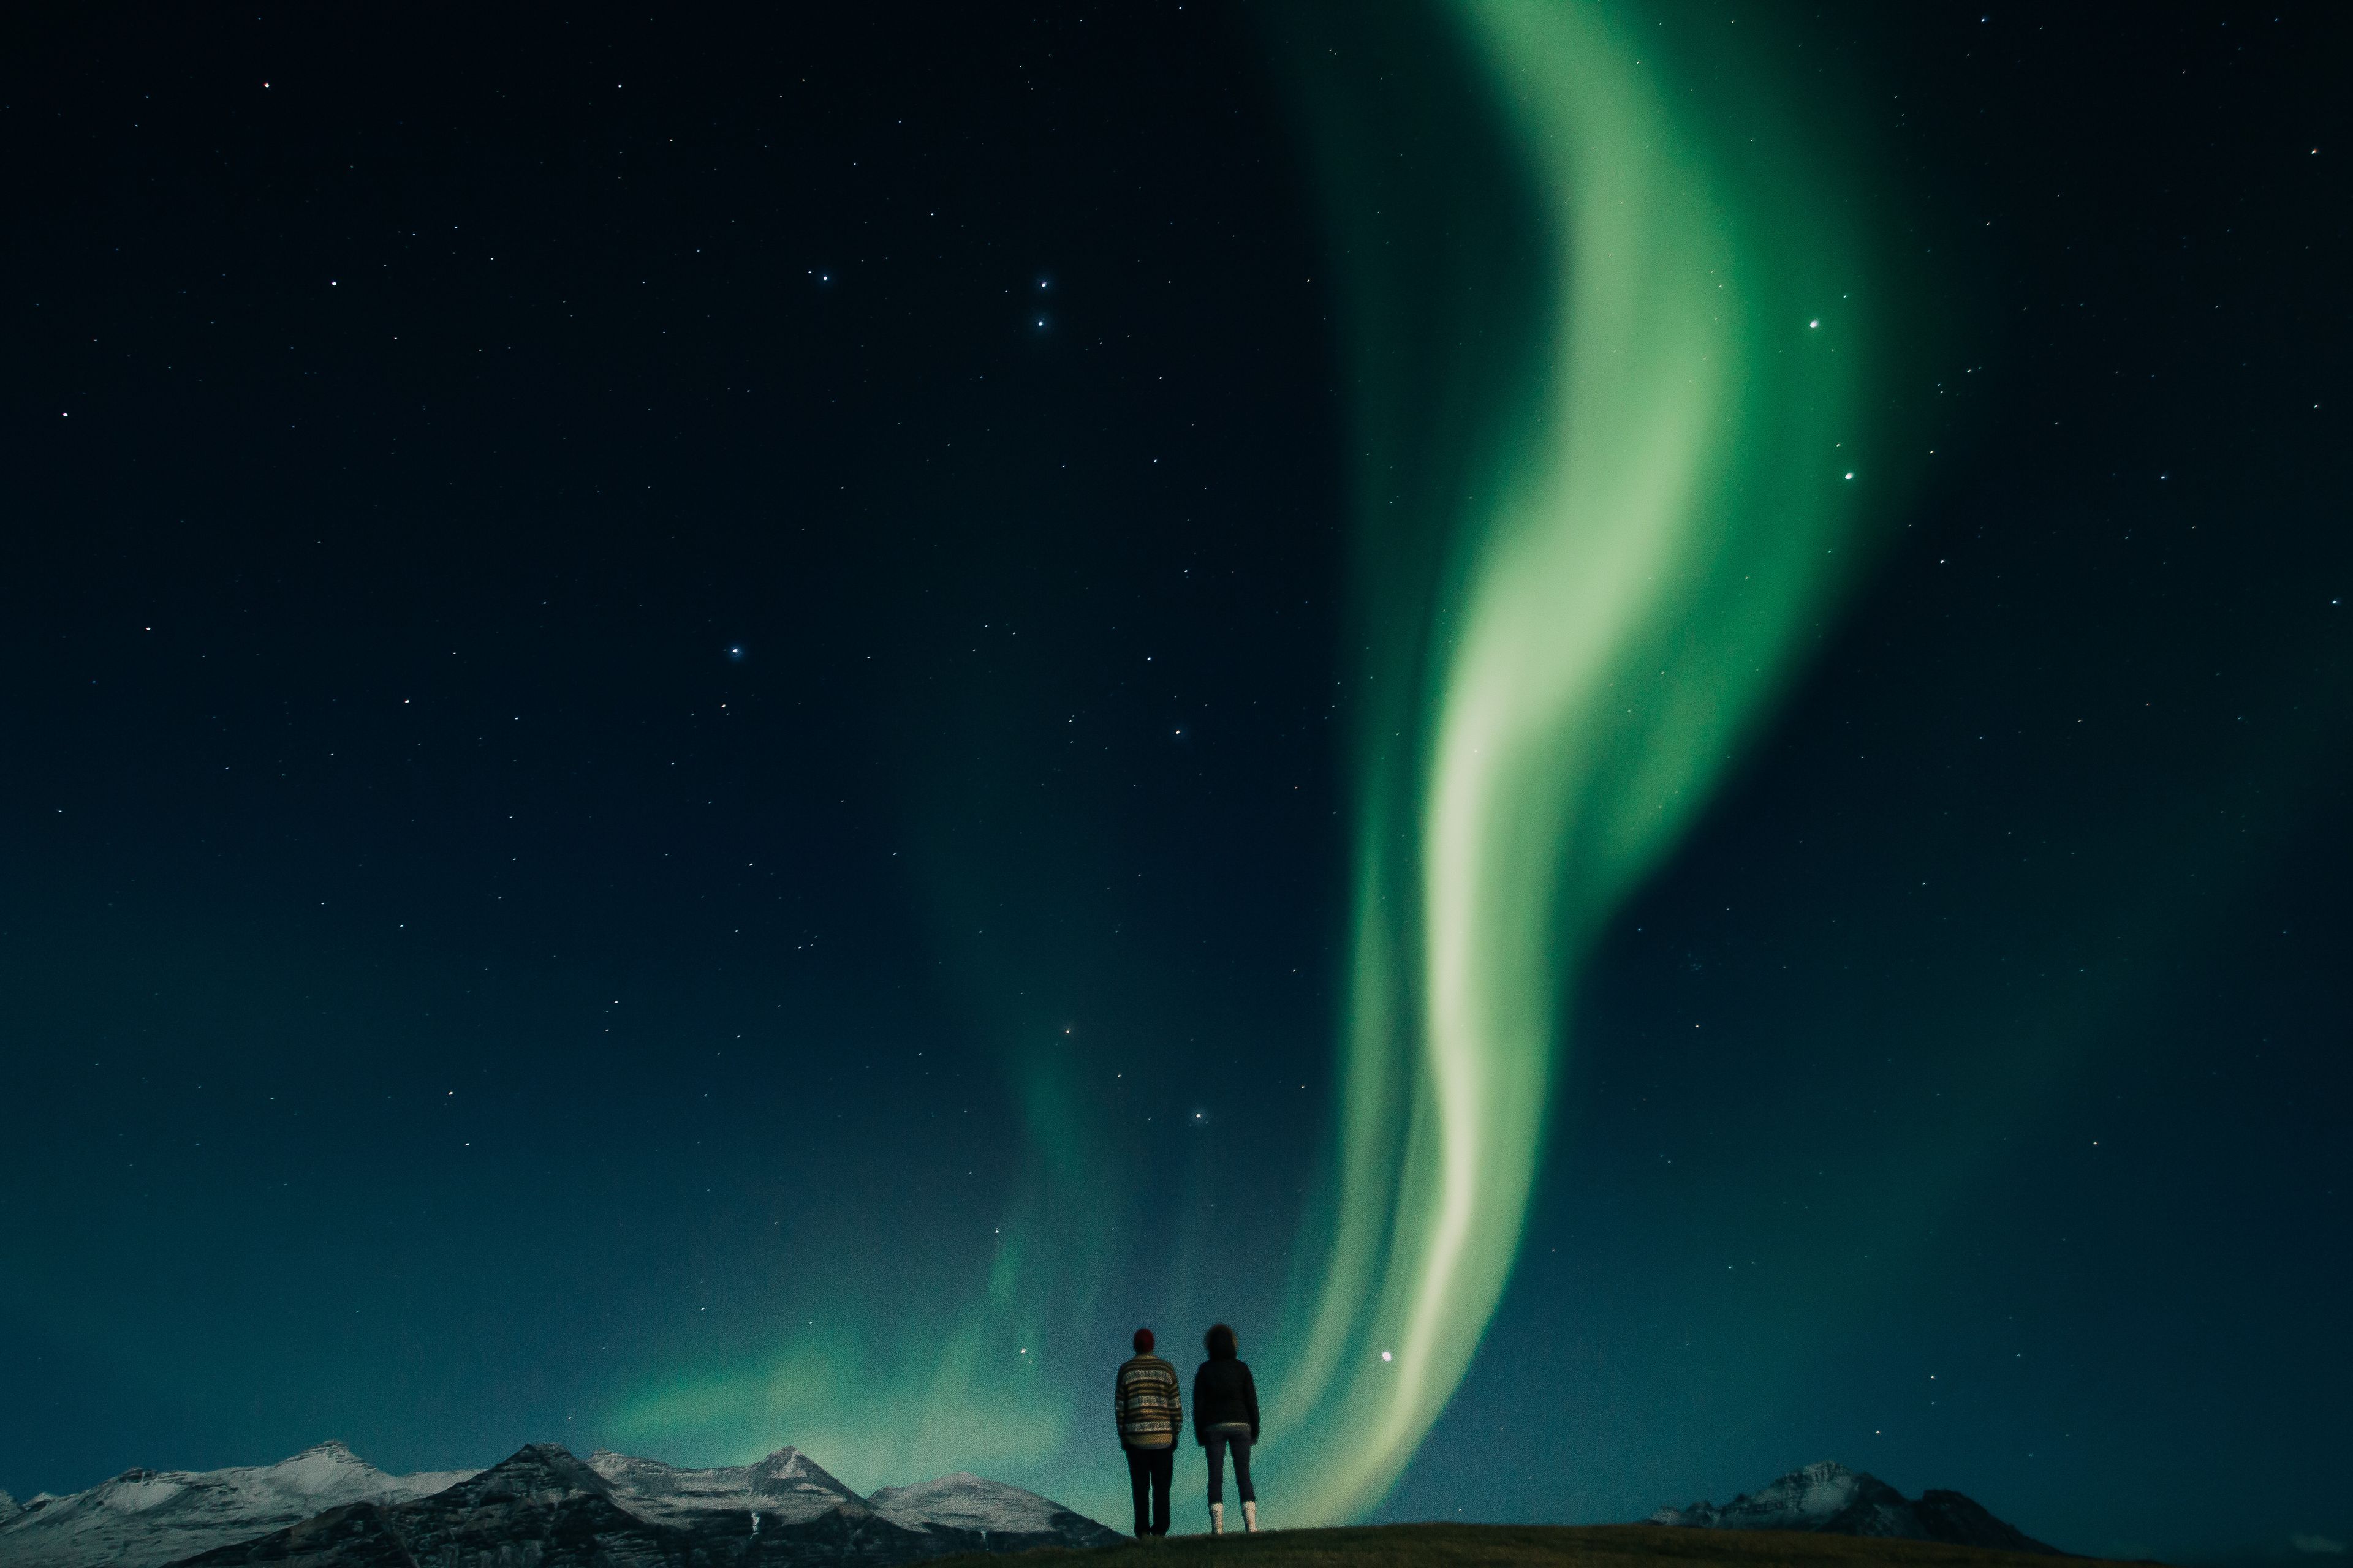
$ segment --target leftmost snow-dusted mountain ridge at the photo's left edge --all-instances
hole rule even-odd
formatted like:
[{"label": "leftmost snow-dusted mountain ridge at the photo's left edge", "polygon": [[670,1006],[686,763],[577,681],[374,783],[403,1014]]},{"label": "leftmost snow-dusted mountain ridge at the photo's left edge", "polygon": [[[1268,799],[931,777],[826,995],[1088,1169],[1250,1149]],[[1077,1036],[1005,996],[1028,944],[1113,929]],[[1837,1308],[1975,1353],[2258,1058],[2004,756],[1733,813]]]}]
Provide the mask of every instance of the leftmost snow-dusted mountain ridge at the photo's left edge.
[{"label": "leftmost snow-dusted mountain ridge at the photo's left edge", "polygon": [[[471,1476],[388,1476],[344,1443],[238,1469],[125,1469],[71,1497],[0,1507],[7,1568],[155,1568],[280,1530],[346,1502],[407,1502]],[[0,1493],[0,1497],[7,1497]]]}]

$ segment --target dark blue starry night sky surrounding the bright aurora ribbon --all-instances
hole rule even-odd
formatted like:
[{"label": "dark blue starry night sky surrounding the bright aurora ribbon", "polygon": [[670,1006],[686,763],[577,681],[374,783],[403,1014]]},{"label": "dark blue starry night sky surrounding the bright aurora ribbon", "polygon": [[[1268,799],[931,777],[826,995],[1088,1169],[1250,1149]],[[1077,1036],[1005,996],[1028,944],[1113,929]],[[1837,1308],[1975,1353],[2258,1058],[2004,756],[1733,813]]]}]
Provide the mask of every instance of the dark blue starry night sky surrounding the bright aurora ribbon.
[{"label": "dark blue starry night sky surrounding the bright aurora ribbon", "polygon": [[[1831,390],[1727,378],[1727,527],[1781,550],[1807,409],[1866,461],[1755,672],[1659,670],[1722,724],[1640,853],[1511,863],[1525,1225],[1334,1509],[1833,1458],[2329,1561],[2353,24],[1574,9],[1760,148],[1706,169],[1765,273],[1868,294],[1774,327]],[[800,1443],[1120,1519],[1136,1324],[1306,1399],[1351,1020],[1428,1004],[1360,933],[1445,924],[1365,903],[1452,733],[1391,717],[1478,642],[1473,458],[1555,428],[1600,202],[1515,195],[1553,143],[1435,7],[654,12],[7,24],[19,1497]],[[1581,802],[1654,755],[1581,733]],[[1268,1420],[1273,1523],[1348,1408]]]}]

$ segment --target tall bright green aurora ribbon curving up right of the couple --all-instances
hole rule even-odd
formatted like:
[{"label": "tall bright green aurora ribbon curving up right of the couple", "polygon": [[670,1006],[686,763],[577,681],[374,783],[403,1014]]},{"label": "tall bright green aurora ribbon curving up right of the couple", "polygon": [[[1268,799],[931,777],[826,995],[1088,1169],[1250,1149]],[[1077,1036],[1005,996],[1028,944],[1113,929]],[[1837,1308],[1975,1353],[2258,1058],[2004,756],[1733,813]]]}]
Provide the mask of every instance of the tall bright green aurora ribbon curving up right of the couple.
[{"label": "tall bright green aurora ribbon curving up right of the couple", "polygon": [[[1520,1246],[1577,959],[1786,670],[1857,491],[1854,268],[1821,181],[1732,167],[1699,108],[1715,85],[1678,80],[1624,7],[1447,16],[1497,132],[1449,150],[1511,169],[1546,259],[1461,310],[1466,339],[1522,346],[1487,353],[1489,386],[1384,371],[1379,343],[1412,331],[1353,327],[1372,339],[1367,545],[1442,545],[1419,576],[1367,571],[1367,635],[1428,642],[1372,658],[1388,691],[1362,766],[1334,1234],[1275,1420],[1334,1436],[1282,1465],[1287,1519],[1379,1502],[1461,1382]],[[1449,266],[1421,306],[1475,287],[1478,256]],[[1400,520],[1400,470],[1461,484]]]}]

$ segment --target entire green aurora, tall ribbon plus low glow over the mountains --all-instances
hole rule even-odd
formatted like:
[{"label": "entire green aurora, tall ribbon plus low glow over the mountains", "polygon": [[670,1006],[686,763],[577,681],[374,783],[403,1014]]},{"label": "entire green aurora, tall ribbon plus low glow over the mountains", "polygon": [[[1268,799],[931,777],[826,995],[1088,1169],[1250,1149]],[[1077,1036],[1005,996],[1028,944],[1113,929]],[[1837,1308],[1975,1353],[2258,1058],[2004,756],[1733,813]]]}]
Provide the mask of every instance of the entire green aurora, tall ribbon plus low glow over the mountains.
[{"label": "entire green aurora, tall ribbon plus low glow over the mountains", "polygon": [[[1859,498],[1885,496],[1842,186],[1729,42],[1692,49],[1704,31],[1734,28],[1593,0],[1268,14],[1341,273],[1362,649],[1334,1161],[1285,1328],[1247,1352],[1282,1523],[1374,1509],[1461,1382],[1520,1248],[1579,959],[1788,675]],[[1059,1030],[1005,978],[1120,971],[1085,929],[1031,924],[969,980],[1026,1150],[986,1284],[828,1255],[805,1328],[640,1387],[614,1439],[692,1462],[793,1441],[859,1486],[969,1467],[1125,1514],[1092,1314],[1118,1267],[1099,1239],[1136,1232],[1144,1190],[1082,1091],[1099,1065],[1028,1044]],[[1181,1225],[1174,1251],[1207,1258]],[[1231,1309],[1169,1300],[1191,1307]]]}]

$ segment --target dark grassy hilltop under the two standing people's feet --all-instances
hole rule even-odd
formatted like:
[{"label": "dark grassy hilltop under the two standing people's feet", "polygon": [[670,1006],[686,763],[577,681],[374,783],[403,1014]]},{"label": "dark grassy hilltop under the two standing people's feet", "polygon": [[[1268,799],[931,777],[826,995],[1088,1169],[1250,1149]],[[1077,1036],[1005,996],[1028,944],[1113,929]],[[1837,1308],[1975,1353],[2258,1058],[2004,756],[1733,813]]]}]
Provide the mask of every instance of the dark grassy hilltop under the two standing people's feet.
[{"label": "dark grassy hilltop under the two standing people's feet", "polygon": [[1005,1563],[1096,1563],[1111,1568],[2049,1568],[2024,1552],[1944,1547],[1925,1540],[1807,1535],[1795,1530],[1673,1530],[1666,1526],[1391,1523],[1346,1530],[1261,1530],[1259,1535],[1169,1535],[1092,1552],[944,1556],[934,1568]]}]

